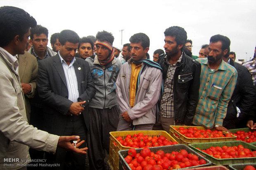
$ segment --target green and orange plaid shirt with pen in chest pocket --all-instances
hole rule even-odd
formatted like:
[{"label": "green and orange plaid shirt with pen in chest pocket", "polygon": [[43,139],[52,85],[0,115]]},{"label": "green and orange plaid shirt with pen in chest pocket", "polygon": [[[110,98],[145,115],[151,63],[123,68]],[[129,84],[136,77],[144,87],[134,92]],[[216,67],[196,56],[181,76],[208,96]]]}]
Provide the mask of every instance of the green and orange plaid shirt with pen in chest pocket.
[{"label": "green and orange plaid shirt with pen in chest pocket", "polygon": [[208,66],[207,58],[197,61],[201,63],[199,102],[192,123],[208,129],[214,125],[222,126],[235,89],[237,71],[223,60],[220,67],[213,71]]}]

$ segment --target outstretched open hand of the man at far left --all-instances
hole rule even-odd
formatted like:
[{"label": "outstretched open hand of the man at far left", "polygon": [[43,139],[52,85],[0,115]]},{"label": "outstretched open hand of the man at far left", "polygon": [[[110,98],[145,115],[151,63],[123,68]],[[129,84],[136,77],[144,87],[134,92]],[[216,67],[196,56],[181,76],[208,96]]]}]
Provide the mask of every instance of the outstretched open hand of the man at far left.
[{"label": "outstretched open hand of the man at far left", "polygon": [[[85,152],[85,150],[88,149],[87,147],[78,148],[83,142],[85,142],[84,140],[80,142],[79,138],[80,136],[60,136],[58,146],[78,154],[87,154],[87,152]],[[75,145],[73,143],[71,144],[71,140],[77,140],[76,147],[74,147]]]}]

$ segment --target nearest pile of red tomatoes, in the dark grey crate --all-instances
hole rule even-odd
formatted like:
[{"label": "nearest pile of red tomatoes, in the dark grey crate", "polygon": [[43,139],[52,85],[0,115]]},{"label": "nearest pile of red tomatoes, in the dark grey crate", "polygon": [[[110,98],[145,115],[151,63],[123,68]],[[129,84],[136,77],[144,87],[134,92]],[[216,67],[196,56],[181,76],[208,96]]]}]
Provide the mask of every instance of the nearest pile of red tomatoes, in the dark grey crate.
[{"label": "nearest pile of red tomatoes, in the dark grey crate", "polygon": [[154,153],[147,147],[140,153],[136,153],[134,148],[129,149],[125,160],[132,170],[173,170],[206,164],[204,159],[199,160],[197,155],[188,154],[185,149],[180,152],[164,153],[159,150]]}]

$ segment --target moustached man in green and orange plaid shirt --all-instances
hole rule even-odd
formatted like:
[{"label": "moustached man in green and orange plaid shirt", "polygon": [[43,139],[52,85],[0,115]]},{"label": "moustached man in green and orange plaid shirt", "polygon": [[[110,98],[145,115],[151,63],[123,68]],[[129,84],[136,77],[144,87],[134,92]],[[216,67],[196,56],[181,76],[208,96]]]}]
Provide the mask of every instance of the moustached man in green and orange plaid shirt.
[{"label": "moustached man in green and orange plaid shirt", "polygon": [[207,58],[197,59],[201,63],[201,76],[199,102],[192,122],[195,125],[228,131],[222,123],[237,80],[236,69],[222,60],[229,46],[228,37],[214,35],[210,39]]}]

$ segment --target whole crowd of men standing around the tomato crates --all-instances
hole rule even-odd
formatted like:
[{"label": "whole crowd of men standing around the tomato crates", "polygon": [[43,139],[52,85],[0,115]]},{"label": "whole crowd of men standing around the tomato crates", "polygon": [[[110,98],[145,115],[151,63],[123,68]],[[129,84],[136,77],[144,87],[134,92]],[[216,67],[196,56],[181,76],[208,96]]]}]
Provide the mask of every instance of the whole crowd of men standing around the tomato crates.
[{"label": "whole crowd of men standing around the tomato crates", "polygon": [[235,62],[228,37],[213,35],[197,57],[184,28],[171,26],[152,61],[144,33],[120,48],[107,31],[62,30],[50,49],[47,28],[23,9],[0,7],[0,24],[0,169],[32,168],[19,166],[30,154],[80,170],[86,153],[90,169],[107,169],[111,131],[256,127],[256,57]]}]

